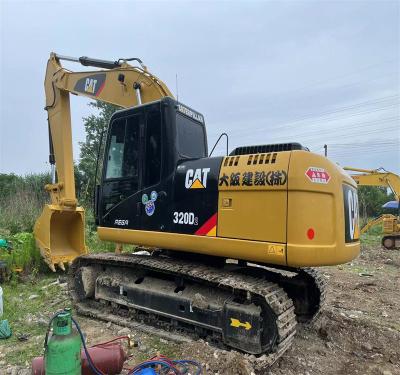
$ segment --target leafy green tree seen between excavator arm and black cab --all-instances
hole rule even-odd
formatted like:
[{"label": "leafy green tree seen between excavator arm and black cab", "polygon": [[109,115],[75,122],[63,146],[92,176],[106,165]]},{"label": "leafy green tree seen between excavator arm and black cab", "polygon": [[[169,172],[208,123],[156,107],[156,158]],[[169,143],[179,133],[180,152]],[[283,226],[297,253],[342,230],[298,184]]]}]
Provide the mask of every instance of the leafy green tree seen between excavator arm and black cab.
[{"label": "leafy green tree seen between excavator arm and black cab", "polygon": [[[89,106],[98,110],[98,114],[92,114],[83,119],[85,127],[85,142],[80,142],[80,161],[78,164],[78,176],[80,180],[79,196],[81,203],[91,206],[93,202],[93,193],[96,181],[101,174],[101,166],[103,164],[104,141],[106,130],[113,113],[119,107],[104,102],[91,102]],[[100,141],[102,144],[100,145]],[[100,146],[100,150],[99,150]],[[100,151],[100,152],[99,152]],[[97,156],[98,171],[96,173]]]}]

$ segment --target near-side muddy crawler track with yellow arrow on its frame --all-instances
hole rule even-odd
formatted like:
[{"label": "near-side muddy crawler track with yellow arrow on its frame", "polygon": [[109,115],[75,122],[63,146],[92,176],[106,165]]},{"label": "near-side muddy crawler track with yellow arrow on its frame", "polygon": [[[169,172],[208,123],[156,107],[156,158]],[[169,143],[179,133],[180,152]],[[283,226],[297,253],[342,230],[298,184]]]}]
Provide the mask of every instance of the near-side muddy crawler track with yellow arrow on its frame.
[{"label": "near-side muddy crawler track with yellow arrow on its frame", "polygon": [[[143,293],[146,283],[149,290],[160,290],[153,305]],[[83,315],[267,354],[270,363],[289,348],[296,332],[295,307],[278,283],[201,263],[127,254],[86,255],[70,267],[69,288]],[[209,298],[203,306],[195,301],[199,290]],[[165,296],[170,299],[157,299]],[[180,312],[174,310],[175,303],[183,307]]]}]

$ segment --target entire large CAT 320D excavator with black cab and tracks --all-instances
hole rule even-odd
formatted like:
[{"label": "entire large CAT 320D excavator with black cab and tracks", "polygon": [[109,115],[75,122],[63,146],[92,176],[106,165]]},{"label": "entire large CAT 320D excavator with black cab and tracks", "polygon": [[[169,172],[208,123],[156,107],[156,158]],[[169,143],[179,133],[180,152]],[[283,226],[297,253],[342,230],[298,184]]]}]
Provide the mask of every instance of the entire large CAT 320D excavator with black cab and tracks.
[{"label": "entire large CAT 320D excavator with black cab and tracks", "polygon": [[[62,60],[96,69],[72,72]],[[279,358],[297,322],[324,302],[324,278],[311,267],[359,254],[354,180],[299,143],[210,157],[204,116],[140,59],[52,53],[45,93],[53,181],[34,232],[50,268],[69,264],[77,311]],[[101,240],[140,253],[88,252],[70,94],[123,108],[108,127],[95,216]]]}]

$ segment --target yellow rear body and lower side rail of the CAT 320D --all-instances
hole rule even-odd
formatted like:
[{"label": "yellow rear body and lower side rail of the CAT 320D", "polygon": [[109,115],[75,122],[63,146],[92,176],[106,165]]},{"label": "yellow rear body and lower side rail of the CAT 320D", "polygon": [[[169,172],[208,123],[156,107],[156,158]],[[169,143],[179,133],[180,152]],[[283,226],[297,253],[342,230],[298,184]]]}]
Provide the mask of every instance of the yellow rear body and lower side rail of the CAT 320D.
[{"label": "yellow rear body and lower side rail of the CAT 320D", "polygon": [[[307,151],[274,155],[274,163],[268,164],[264,154],[224,159],[220,178],[260,170],[283,173],[279,185],[246,186],[240,181],[237,186],[220,186],[216,227],[207,235],[99,227],[99,237],[290,267],[334,265],[354,259],[360,251],[358,210],[355,206],[346,223],[343,188],[356,192],[354,180],[320,155]],[[326,176],[326,183],[310,178],[310,169],[324,171],[320,173]],[[350,220],[353,238],[346,243]]]}]

